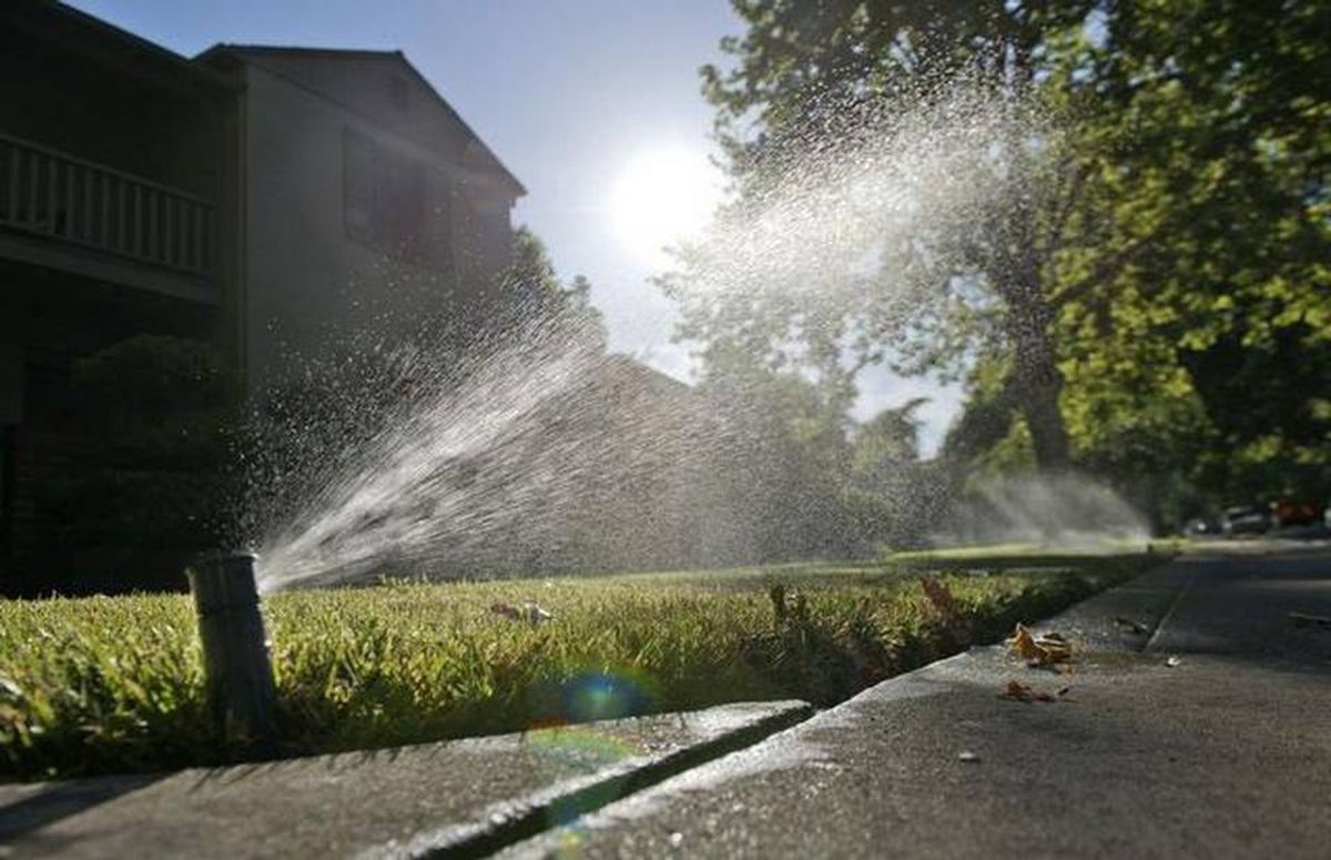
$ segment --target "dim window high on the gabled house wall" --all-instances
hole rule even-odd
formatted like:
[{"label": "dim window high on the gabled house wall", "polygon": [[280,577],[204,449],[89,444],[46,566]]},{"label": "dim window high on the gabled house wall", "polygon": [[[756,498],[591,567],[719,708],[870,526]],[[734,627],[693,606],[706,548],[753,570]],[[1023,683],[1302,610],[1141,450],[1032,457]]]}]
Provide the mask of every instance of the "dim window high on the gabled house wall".
[{"label": "dim window high on the gabled house wall", "polygon": [[343,222],[349,237],[434,266],[451,261],[450,188],[419,161],[365,134],[343,134]]}]

